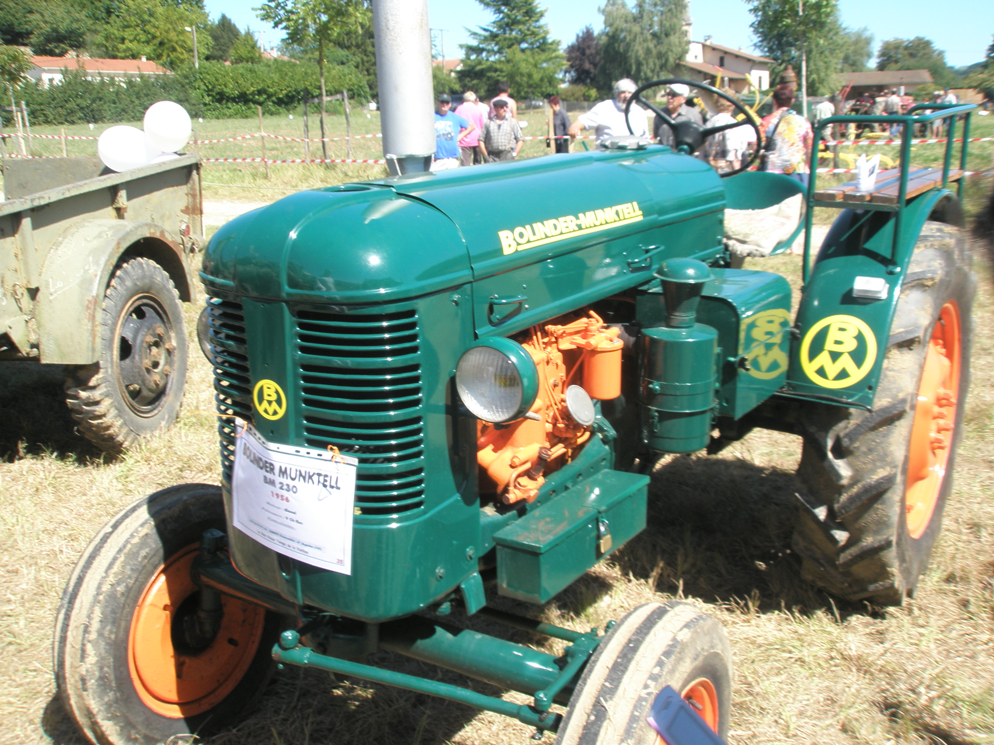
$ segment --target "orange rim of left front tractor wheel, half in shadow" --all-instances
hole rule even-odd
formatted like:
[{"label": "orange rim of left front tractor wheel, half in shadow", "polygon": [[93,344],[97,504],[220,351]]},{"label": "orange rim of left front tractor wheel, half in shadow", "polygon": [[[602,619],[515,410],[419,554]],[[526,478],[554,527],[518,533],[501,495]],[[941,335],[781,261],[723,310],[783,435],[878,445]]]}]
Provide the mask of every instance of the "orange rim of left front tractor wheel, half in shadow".
[{"label": "orange rim of left front tractor wheel, half in shadow", "polygon": [[128,635],[135,691],[152,711],[171,719],[202,714],[235,689],[258,650],[265,621],[264,609],[222,596],[224,616],[214,641],[199,651],[176,644],[182,640],[176,628],[180,609],[198,591],[190,576],[197,550],[192,543],[159,568],[138,601]]}]

